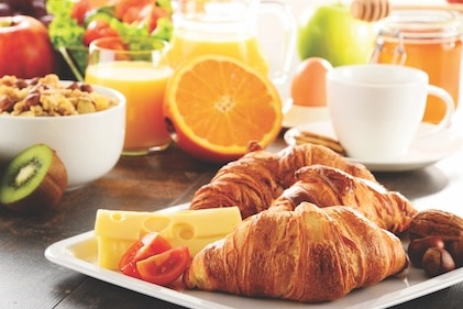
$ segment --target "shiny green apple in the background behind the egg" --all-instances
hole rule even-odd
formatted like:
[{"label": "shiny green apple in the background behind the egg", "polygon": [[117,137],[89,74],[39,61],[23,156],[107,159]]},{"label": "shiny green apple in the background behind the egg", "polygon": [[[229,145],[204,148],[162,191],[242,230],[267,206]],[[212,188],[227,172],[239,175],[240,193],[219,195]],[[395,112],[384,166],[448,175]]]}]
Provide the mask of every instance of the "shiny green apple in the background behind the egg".
[{"label": "shiny green apple in the background behind the egg", "polygon": [[356,20],[343,3],[322,4],[301,14],[299,57],[321,57],[332,66],[367,63],[375,41],[374,23]]}]

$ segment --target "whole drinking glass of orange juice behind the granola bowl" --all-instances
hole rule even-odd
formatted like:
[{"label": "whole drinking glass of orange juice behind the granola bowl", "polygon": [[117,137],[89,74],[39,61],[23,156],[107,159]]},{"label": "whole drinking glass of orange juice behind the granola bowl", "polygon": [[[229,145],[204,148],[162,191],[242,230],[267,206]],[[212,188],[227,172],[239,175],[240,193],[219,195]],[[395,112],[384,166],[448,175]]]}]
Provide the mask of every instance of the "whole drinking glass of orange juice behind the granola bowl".
[{"label": "whole drinking glass of orange juice behind the granola bowl", "polygon": [[133,37],[104,37],[89,46],[86,82],[117,89],[126,98],[122,155],[145,155],[170,143],[162,109],[173,71],[167,49],[165,41]]}]

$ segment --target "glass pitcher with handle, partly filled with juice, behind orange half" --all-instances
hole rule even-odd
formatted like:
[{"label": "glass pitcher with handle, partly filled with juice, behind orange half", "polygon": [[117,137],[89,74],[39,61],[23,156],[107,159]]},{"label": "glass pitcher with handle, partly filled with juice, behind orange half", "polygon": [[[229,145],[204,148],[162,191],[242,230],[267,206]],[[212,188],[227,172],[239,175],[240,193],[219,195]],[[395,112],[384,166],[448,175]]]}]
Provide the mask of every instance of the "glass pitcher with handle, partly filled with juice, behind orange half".
[{"label": "glass pitcher with handle, partly filled with juice, behind orange half", "polygon": [[[174,32],[169,62],[173,68],[206,54],[240,59],[275,84],[283,84],[290,69],[296,44],[296,22],[285,2],[277,0],[174,0]],[[269,67],[257,38],[257,18],[269,14],[283,26],[284,44],[278,65]],[[267,19],[269,21],[269,19]]]}]

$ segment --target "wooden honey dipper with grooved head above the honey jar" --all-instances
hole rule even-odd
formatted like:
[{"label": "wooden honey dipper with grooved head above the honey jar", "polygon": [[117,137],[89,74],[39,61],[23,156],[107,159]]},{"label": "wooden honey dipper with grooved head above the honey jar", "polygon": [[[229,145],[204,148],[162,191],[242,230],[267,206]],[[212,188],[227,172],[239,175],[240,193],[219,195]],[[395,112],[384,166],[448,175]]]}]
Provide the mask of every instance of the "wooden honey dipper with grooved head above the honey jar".
[{"label": "wooden honey dipper with grooved head above the honey jar", "polygon": [[389,0],[352,0],[351,14],[355,19],[375,22],[390,14],[393,10],[445,10],[463,12],[463,4],[393,5]]}]

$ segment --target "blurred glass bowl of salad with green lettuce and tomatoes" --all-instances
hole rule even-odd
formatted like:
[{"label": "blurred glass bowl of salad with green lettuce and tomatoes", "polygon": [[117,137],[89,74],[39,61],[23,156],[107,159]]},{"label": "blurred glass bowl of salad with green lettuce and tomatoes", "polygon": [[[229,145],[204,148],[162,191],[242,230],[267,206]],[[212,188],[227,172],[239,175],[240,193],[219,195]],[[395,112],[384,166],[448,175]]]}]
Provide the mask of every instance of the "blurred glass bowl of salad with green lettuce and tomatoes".
[{"label": "blurred glass bowl of salad with green lettuce and tomatoes", "polygon": [[88,45],[106,36],[170,40],[170,0],[48,0],[48,35],[76,80],[82,81]]}]

